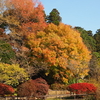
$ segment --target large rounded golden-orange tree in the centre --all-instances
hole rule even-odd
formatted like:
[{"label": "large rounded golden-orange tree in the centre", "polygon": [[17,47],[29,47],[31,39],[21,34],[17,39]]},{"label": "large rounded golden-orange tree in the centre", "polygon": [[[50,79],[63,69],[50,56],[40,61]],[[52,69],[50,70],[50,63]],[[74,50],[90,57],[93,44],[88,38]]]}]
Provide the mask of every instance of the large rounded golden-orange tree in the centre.
[{"label": "large rounded golden-orange tree in the centre", "polygon": [[70,76],[83,78],[87,75],[90,52],[80,33],[71,26],[49,24],[44,31],[30,33],[27,38],[31,59],[48,63],[45,75],[49,80],[67,83]]}]

